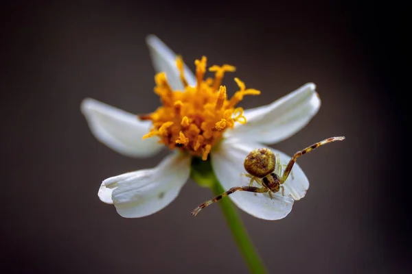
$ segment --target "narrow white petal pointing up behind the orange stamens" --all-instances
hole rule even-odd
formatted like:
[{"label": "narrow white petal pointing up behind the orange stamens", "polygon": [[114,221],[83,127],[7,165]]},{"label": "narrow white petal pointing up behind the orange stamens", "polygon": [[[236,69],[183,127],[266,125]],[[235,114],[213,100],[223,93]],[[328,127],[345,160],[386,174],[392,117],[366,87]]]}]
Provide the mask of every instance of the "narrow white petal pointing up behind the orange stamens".
[{"label": "narrow white petal pointing up behind the orange stamens", "polygon": [[[176,66],[176,53],[165,45],[157,36],[149,35],[146,42],[150,49],[153,66],[157,73],[164,71],[173,90],[183,90],[179,70]],[[185,78],[190,86],[196,86],[196,77],[190,69],[184,66]]]}]

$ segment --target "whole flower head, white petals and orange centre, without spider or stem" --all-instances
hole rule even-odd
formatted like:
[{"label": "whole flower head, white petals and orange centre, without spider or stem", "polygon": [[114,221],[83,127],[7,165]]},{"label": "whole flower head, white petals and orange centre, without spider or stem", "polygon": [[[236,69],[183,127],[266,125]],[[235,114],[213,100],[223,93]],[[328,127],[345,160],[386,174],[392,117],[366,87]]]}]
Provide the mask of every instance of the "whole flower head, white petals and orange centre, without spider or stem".
[{"label": "whole flower head, white petals and orange centre, without spider or stem", "polygon": [[[193,74],[159,38],[149,36],[147,42],[155,69],[165,72],[157,75],[155,88],[163,108],[139,119],[94,99],[84,99],[81,104],[93,135],[119,153],[148,157],[163,144],[174,149],[154,169],[125,173],[102,182],[98,196],[105,203],[113,203],[121,216],[148,216],[168,206],[190,175],[193,155],[206,160],[210,154],[211,166],[223,188],[246,186],[249,179],[240,176],[245,172],[246,155],[263,144],[292,136],[307,125],[321,105],[315,85],[310,83],[273,103],[243,112],[234,105],[244,95],[260,92],[246,89],[236,79],[240,90],[227,99],[226,88],[220,82],[225,72],[234,71],[233,66],[212,66],[209,70],[216,73],[214,81],[203,80],[205,58],[196,60]],[[279,154],[282,164],[290,160],[281,151],[272,150]],[[293,202],[304,197],[308,187],[306,175],[295,164],[293,176],[284,183],[284,196],[277,192],[270,199],[267,194],[236,192],[229,197],[253,216],[277,220],[292,210]]]}]

